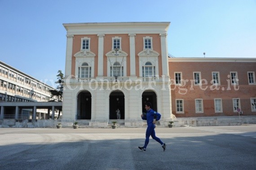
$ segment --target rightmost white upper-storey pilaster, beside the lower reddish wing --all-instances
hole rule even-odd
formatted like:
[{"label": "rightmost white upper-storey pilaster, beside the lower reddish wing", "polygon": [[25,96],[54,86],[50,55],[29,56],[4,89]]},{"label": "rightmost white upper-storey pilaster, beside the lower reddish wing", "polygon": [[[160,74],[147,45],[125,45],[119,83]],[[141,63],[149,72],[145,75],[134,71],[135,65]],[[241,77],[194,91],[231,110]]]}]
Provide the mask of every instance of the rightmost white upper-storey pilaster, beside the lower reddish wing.
[{"label": "rightmost white upper-storey pilaster, beside the lower reddish wing", "polygon": [[163,75],[169,76],[169,68],[168,68],[168,50],[167,50],[167,34],[159,34],[161,38],[161,54],[162,54],[162,72]]}]

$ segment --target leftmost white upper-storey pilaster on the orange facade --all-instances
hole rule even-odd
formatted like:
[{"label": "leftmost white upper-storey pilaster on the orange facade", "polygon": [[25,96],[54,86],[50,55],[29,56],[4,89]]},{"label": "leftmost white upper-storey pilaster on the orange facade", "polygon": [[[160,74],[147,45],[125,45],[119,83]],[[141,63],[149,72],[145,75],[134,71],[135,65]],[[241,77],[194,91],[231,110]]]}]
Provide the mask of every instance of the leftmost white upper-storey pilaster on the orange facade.
[{"label": "leftmost white upper-storey pilaster on the orange facade", "polygon": [[65,77],[71,75],[71,65],[72,65],[72,49],[73,49],[73,38],[74,35],[66,35],[66,65],[65,65]]}]

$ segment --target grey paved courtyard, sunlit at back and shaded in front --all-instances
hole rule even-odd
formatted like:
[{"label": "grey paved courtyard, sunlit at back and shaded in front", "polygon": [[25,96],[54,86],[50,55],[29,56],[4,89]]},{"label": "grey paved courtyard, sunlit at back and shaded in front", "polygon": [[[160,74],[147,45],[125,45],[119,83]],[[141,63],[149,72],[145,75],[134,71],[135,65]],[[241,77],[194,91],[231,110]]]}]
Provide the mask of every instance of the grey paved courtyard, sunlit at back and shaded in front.
[{"label": "grey paved courtyard, sunlit at back and shaded in front", "polygon": [[156,128],[0,128],[0,170],[255,170],[256,125]]}]

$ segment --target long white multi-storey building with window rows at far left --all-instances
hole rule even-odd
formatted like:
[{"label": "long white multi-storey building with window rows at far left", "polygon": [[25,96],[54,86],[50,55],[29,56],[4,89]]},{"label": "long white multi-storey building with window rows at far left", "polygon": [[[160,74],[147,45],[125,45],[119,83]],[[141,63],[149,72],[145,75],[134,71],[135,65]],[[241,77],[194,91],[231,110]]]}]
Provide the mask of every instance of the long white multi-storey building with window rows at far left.
[{"label": "long white multi-storey building with window rows at far left", "polygon": [[[33,119],[33,107],[20,106],[17,102],[48,102],[53,87],[0,61],[0,119]],[[7,103],[8,102],[8,106]],[[49,109],[36,109],[34,119],[49,119]]]}]

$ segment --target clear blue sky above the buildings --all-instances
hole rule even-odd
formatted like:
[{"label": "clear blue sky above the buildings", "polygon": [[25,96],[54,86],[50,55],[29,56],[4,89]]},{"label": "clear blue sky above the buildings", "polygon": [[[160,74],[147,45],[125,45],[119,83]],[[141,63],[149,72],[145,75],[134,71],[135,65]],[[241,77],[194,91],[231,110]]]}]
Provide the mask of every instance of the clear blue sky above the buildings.
[{"label": "clear blue sky above the buildings", "polygon": [[0,0],[0,60],[51,85],[63,23],[168,21],[175,57],[256,57],[256,0]]}]

